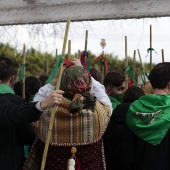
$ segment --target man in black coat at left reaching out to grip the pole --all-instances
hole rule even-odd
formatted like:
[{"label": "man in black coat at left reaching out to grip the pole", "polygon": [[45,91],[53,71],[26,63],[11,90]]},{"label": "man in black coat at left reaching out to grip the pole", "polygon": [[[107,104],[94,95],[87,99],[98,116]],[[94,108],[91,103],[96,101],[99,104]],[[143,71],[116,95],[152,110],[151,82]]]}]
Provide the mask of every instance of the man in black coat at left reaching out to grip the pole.
[{"label": "man in black coat at left reaching out to grip the pole", "polygon": [[[0,108],[2,107],[2,110],[0,112],[1,170],[22,169],[24,163],[23,144],[31,145],[35,139],[35,133],[29,123],[38,120],[40,117],[40,111],[37,111],[37,109],[35,108],[35,103],[27,105],[26,101],[24,101],[20,96],[15,95],[12,88],[15,82],[15,77],[16,70],[13,63],[6,57],[0,57],[0,80],[2,82],[0,84],[0,97],[2,98],[2,102],[0,103]],[[60,94],[62,94],[63,92],[58,91],[56,93],[59,93],[57,94],[59,95],[58,97],[62,98],[62,95]],[[5,103],[5,100],[7,100],[8,102]],[[18,109],[17,107],[15,107],[15,105],[10,106],[9,101],[15,105],[23,105],[23,107],[20,107]],[[54,105],[54,102],[56,101],[54,100],[51,102]],[[46,103],[47,106],[51,105],[49,101],[46,101],[45,104]],[[47,108],[47,106],[45,105],[45,108]],[[39,110],[41,110],[42,105],[40,106],[40,102],[37,103],[37,107],[39,108]],[[11,112],[8,109],[11,109]],[[32,111],[32,113],[28,115],[27,112],[30,113],[30,111]]]}]

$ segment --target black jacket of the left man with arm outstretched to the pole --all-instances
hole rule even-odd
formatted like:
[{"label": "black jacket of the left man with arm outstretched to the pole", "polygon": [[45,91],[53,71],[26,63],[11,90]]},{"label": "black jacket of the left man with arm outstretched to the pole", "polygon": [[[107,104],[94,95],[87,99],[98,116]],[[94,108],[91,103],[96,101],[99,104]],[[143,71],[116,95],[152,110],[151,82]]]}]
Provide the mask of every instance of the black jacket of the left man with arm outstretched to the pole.
[{"label": "black jacket of the left man with arm outstretched to the pole", "polygon": [[17,134],[20,137],[25,135],[25,125],[37,121],[41,112],[36,109],[35,103],[16,105],[8,97],[0,94],[0,169],[18,170]]}]

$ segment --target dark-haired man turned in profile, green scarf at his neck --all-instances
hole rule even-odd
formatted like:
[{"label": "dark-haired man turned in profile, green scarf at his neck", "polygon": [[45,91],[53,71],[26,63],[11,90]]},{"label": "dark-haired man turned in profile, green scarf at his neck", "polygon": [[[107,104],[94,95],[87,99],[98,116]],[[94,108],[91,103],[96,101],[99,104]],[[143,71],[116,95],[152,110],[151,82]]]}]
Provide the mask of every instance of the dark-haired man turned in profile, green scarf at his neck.
[{"label": "dark-haired man turned in profile, green scarf at his neck", "polygon": [[125,92],[125,76],[118,72],[109,72],[104,77],[103,84],[114,110],[121,103]]}]

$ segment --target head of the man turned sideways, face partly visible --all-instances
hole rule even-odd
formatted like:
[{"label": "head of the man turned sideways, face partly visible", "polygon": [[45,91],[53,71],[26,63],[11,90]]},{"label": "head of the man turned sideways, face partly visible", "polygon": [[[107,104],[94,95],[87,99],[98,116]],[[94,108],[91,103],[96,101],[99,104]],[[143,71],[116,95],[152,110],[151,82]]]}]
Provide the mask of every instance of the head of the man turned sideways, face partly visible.
[{"label": "head of the man turned sideways, face partly visible", "polygon": [[115,97],[125,92],[125,76],[118,72],[109,72],[106,74],[103,84],[108,96]]}]

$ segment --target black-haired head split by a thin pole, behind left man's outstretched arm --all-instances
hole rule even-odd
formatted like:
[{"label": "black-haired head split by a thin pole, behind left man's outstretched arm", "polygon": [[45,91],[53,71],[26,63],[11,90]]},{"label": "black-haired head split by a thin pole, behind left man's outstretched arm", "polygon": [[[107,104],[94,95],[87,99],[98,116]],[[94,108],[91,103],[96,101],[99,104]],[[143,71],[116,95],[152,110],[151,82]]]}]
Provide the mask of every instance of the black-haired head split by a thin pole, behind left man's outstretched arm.
[{"label": "black-haired head split by a thin pole, behind left man's outstretched arm", "polygon": [[[25,99],[31,101],[31,97],[34,96],[39,88],[41,87],[41,82],[38,78],[34,76],[29,76],[25,79]],[[20,81],[14,85],[15,94],[22,96],[22,84]]]}]

